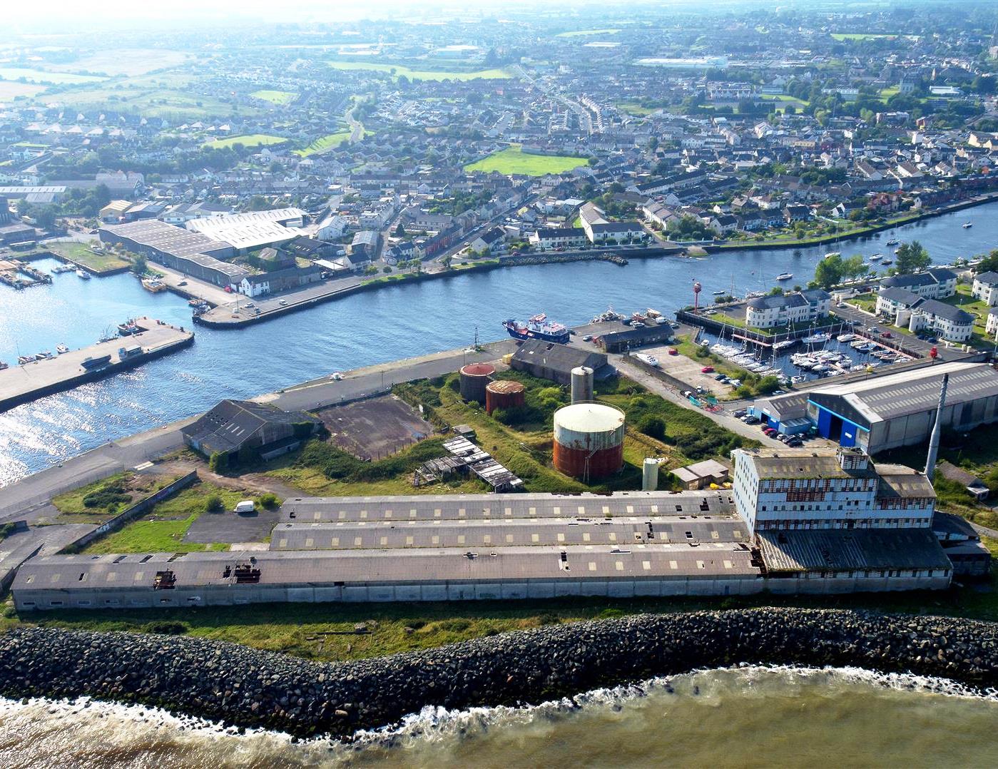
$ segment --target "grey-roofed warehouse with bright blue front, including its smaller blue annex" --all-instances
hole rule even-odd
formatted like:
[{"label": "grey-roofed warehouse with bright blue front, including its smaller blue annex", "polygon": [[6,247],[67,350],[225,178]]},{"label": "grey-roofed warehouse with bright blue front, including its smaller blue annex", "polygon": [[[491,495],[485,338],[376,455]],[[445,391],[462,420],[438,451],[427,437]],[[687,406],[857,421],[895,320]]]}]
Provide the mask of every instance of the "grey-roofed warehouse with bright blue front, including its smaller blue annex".
[{"label": "grey-roofed warehouse with bright blue front, including its smaller blue annex", "polygon": [[928,440],[947,373],[944,429],[967,431],[998,421],[998,370],[964,362],[764,398],[756,401],[754,411],[780,432],[800,432],[813,425],[822,438],[877,454]]}]

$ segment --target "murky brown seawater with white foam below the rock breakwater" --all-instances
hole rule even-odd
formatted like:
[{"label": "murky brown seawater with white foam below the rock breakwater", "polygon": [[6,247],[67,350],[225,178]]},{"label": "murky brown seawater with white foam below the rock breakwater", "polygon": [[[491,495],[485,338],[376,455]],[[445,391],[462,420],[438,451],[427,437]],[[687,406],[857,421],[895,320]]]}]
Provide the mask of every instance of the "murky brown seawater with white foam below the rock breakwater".
[{"label": "murky brown seawater with white foam below the rock breakwater", "polygon": [[991,766],[998,697],[860,668],[742,666],[532,707],[424,708],[296,741],[138,705],[0,699],[0,765],[31,767]]}]

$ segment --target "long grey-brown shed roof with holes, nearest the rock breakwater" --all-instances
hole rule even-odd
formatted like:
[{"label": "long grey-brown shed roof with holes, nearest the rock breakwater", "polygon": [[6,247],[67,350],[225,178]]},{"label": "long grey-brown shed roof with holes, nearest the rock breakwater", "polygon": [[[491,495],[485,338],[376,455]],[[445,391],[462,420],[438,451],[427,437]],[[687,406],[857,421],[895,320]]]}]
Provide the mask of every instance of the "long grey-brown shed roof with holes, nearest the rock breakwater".
[{"label": "long grey-brown shed roof with holes, nearest the rock breakwater", "polygon": [[[171,572],[176,589],[211,585],[240,589],[235,567],[259,570],[261,585],[427,583],[636,577],[757,577],[749,549],[718,543],[635,545],[612,549],[434,549],[166,553],[152,556],[44,556],[29,560],[14,579],[21,594],[58,590],[153,590],[158,573]],[[226,568],[230,574],[226,576]],[[169,590],[158,590],[169,595]]]}]

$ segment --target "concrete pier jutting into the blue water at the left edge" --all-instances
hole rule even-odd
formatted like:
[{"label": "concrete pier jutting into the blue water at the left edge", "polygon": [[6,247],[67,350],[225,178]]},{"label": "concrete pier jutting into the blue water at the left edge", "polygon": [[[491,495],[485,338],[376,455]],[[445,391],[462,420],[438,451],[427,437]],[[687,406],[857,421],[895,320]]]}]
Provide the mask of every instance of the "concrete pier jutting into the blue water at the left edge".
[{"label": "concrete pier jutting into the blue water at the left edge", "polygon": [[142,329],[139,333],[0,371],[0,412],[135,368],[194,342],[193,331],[155,318],[136,318],[135,323]]}]

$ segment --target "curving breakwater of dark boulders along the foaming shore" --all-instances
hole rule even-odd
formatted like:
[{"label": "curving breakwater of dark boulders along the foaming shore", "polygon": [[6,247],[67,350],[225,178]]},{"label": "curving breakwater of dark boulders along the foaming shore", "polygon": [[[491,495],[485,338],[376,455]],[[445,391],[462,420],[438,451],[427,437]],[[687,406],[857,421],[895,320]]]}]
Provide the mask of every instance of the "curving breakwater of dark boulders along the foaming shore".
[{"label": "curving breakwater of dark boulders along the foaming shore", "polygon": [[988,689],[998,685],[998,624],[822,609],[645,614],[341,663],[203,638],[18,628],[0,635],[0,693],[90,695],[345,736],[424,705],[539,702],[740,662],[855,665]]}]

